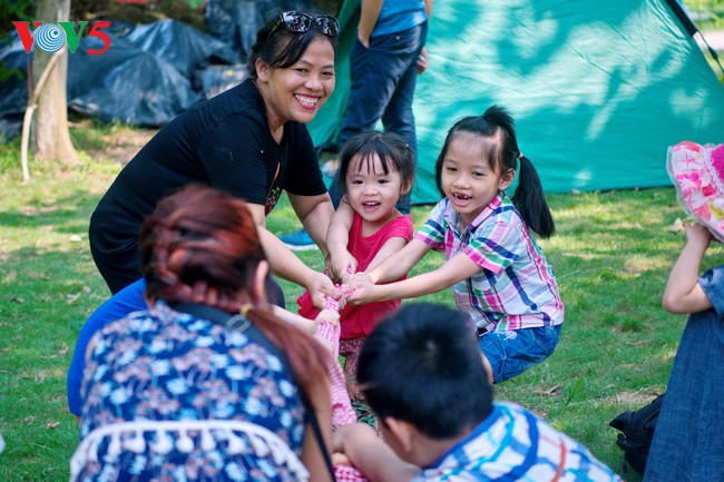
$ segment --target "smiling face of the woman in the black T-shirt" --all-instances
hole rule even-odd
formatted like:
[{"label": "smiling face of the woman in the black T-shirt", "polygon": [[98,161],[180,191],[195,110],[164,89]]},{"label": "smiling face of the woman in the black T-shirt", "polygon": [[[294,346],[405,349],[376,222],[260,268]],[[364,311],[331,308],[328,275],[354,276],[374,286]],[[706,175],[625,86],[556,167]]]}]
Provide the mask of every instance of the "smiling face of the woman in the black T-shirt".
[{"label": "smiling face of the woman in the black T-shirt", "polygon": [[290,67],[262,63],[258,80],[265,85],[262,94],[272,131],[288,120],[310,122],[334,91],[334,48],[324,36],[312,40]]}]

